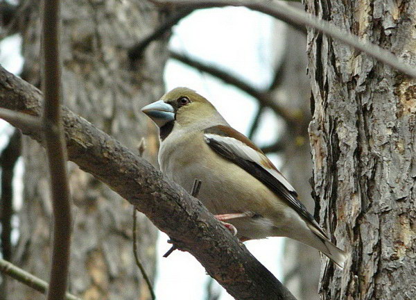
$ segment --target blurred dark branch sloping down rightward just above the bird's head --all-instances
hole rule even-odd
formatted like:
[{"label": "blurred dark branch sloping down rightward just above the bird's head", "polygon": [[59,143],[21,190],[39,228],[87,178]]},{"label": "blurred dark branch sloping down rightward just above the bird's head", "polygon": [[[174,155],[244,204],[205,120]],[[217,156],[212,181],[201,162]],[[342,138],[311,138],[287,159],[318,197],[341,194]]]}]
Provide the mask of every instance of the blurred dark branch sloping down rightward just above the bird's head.
[{"label": "blurred dark branch sloping down rightward just above the bird's head", "polygon": [[277,103],[272,101],[271,97],[269,97],[268,94],[263,93],[257,90],[256,88],[253,88],[252,85],[246,83],[242,79],[236,78],[236,76],[229,74],[228,72],[225,72],[219,69],[218,67],[212,67],[207,63],[202,63],[199,60],[189,58],[175,51],[171,51],[171,58],[178,60],[186,65],[190,65],[191,67],[195,67],[196,69],[199,69],[202,72],[215,76],[216,78],[220,79],[225,83],[236,86],[243,92],[246,92],[250,96],[256,98],[259,101],[260,105],[267,106],[268,108],[272,109],[277,115],[282,117],[286,122],[291,122],[292,117],[288,113],[288,111],[286,111],[283,107],[279,106]]}]

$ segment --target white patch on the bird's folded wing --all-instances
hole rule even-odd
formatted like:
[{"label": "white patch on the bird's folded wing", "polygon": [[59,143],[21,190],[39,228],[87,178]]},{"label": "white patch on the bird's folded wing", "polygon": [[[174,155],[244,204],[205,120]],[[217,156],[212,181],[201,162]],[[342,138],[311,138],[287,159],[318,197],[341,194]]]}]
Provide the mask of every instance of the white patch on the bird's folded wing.
[{"label": "white patch on the bird's folded wing", "polygon": [[271,167],[267,167],[267,165],[264,165],[262,163],[270,163],[270,160],[263,153],[260,153],[259,151],[252,149],[244,142],[241,142],[241,140],[236,140],[235,138],[217,135],[214,133],[205,133],[204,138],[206,142],[209,142],[209,140],[215,140],[216,142],[220,143],[224,148],[234,153],[236,156],[256,163],[264,170],[266,170],[268,173],[270,173],[272,176],[274,176],[278,181],[280,181],[286,189],[288,189],[290,192],[296,193],[291,183],[288,183],[286,178],[284,178],[284,176],[279,171],[272,169]]}]

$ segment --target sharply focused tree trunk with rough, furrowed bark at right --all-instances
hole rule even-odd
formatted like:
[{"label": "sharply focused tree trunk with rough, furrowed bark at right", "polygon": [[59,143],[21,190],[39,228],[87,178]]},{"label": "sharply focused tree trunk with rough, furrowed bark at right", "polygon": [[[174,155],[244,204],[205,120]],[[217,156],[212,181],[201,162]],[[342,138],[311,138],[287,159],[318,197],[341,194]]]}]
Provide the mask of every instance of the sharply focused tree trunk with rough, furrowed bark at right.
[{"label": "sharply focused tree trunk with rough, furrowed bark at right", "polygon": [[[304,3],[416,65],[416,1]],[[313,30],[308,51],[315,201],[349,253],[322,299],[416,299],[416,82]]]}]

